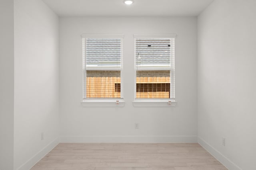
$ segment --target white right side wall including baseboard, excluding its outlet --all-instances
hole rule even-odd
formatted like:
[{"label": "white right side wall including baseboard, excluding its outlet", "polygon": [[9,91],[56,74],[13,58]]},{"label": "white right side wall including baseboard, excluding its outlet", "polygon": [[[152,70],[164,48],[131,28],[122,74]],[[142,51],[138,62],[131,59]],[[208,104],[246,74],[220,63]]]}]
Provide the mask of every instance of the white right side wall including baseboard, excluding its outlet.
[{"label": "white right side wall including baseboard, excluding its outlet", "polygon": [[215,0],[198,17],[198,141],[230,170],[256,169],[255,9]]}]

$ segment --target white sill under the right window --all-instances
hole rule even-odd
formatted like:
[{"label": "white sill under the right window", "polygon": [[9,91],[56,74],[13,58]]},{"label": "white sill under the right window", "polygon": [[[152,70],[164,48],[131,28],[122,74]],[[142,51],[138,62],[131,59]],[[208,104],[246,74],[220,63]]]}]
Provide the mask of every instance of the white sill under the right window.
[{"label": "white sill under the right window", "polygon": [[[171,101],[171,102],[169,102]],[[147,100],[139,99],[132,102],[134,107],[175,107],[175,100]]]}]

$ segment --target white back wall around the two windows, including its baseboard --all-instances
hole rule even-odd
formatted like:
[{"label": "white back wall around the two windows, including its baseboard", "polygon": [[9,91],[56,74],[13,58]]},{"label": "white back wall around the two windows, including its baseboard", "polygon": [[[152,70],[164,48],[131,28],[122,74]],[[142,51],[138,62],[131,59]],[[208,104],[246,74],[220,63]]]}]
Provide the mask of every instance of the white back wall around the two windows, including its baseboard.
[{"label": "white back wall around the two windows, including its baseboard", "polygon": [[[196,30],[196,18],[60,18],[61,141],[196,142]],[[124,34],[124,107],[81,106],[82,33]],[[178,104],[174,108],[133,107],[133,34],[166,33],[177,34],[175,52]],[[140,129],[134,129],[134,123],[140,123]]]}]

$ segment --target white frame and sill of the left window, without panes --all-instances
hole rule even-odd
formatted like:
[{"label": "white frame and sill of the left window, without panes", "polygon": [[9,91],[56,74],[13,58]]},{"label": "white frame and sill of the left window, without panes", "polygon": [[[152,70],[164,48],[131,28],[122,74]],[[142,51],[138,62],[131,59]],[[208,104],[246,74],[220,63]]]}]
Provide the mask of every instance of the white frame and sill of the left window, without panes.
[{"label": "white frame and sill of the left window, without panes", "polygon": [[[85,38],[120,38],[121,39],[121,47],[123,47],[123,40],[124,40],[124,35],[123,34],[82,34],[82,46],[83,46],[83,39]],[[85,44],[86,45],[86,44]],[[83,47],[82,47],[83,49]],[[86,68],[86,52],[82,52],[83,54],[83,64],[85,62],[85,66],[82,64],[82,71],[83,71],[83,84],[82,84],[82,89],[83,89],[83,94],[82,94],[82,106],[84,107],[123,107],[124,106],[124,90],[123,90],[123,48],[121,51],[121,67],[120,68],[111,68],[111,67],[101,67],[95,68],[95,67],[90,67]],[[86,88],[84,88],[84,85],[86,84],[86,70],[120,70],[121,72],[121,98],[86,98]],[[85,79],[84,79],[85,78]]]}]

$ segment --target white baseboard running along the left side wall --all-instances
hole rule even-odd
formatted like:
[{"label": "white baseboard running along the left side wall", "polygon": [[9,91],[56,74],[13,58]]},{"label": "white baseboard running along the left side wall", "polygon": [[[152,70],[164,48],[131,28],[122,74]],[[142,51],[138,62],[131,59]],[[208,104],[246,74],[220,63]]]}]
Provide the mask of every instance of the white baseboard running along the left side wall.
[{"label": "white baseboard running along the left side wall", "polygon": [[32,158],[30,158],[27,162],[25,162],[22,166],[20,166],[17,170],[30,170],[32,166],[34,166],[39,160],[41,160],[46,154],[48,154],[58,144],[59,144],[59,138],[56,138],[54,141],[52,141],[46,147],[40,150],[37,154],[35,154]]}]

